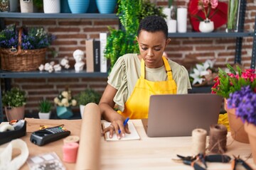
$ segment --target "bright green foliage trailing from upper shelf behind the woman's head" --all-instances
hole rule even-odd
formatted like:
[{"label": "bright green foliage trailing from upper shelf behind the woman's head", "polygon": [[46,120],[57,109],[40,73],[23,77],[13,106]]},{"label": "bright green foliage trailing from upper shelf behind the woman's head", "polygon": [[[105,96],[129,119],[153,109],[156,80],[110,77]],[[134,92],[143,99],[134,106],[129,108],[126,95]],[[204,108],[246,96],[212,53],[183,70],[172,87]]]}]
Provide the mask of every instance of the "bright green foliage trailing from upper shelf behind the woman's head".
[{"label": "bright green foliage trailing from upper shelf behind the woman's head", "polygon": [[118,0],[117,16],[122,23],[122,29],[110,28],[105,48],[105,57],[110,60],[110,69],[117,61],[118,57],[127,53],[138,53],[136,35],[139,21],[146,16],[160,15],[166,17],[162,12],[162,7],[156,7],[149,1],[139,0]]}]

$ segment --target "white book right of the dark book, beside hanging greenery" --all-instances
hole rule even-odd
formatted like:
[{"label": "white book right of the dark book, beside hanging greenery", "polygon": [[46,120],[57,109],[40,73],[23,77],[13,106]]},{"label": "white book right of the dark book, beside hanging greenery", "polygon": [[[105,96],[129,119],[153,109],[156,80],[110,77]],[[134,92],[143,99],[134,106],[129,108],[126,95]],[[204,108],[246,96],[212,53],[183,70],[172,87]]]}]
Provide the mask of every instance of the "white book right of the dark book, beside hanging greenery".
[{"label": "white book right of the dark book, beside hanging greenery", "polygon": [[107,33],[100,33],[100,72],[107,72],[107,58],[104,56]]}]

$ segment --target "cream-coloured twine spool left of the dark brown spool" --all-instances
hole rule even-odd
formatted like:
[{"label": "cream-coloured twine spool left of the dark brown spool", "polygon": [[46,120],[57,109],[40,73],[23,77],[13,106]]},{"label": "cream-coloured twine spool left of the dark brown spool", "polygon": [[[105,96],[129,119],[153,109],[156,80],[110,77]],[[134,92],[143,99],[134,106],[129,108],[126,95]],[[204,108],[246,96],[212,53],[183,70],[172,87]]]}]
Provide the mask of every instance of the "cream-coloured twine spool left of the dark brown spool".
[{"label": "cream-coloured twine spool left of the dark brown spool", "polygon": [[206,135],[204,129],[194,129],[192,131],[192,154],[204,154],[206,152]]}]

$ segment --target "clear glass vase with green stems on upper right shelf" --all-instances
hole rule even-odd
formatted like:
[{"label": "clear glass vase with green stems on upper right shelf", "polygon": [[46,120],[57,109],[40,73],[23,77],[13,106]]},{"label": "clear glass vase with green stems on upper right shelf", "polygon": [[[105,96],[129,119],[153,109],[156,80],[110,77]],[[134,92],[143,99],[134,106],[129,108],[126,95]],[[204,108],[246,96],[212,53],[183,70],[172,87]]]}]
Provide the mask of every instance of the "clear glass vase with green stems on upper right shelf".
[{"label": "clear glass vase with green stems on upper right shelf", "polygon": [[229,0],[228,1],[228,22],[227,22],[227,33],[238,32],[238,21],[240,11],[240,0]]}]

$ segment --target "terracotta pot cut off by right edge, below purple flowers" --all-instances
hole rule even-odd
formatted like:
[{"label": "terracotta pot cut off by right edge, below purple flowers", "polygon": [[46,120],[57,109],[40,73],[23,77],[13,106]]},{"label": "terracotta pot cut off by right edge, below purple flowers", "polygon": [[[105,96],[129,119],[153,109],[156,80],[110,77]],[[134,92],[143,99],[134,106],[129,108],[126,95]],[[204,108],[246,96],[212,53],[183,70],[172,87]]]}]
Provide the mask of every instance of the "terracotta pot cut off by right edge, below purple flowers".
[{"label": "terracotta pot cut off by right edge, below purple flowers", "polygon": [[252,123],[245,123],[244,127],[245,132],[247,132],[249,136],[253,162],[256,164],[256,125],[253,125]]}]

